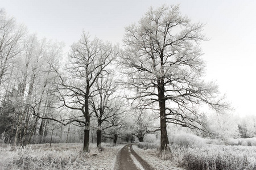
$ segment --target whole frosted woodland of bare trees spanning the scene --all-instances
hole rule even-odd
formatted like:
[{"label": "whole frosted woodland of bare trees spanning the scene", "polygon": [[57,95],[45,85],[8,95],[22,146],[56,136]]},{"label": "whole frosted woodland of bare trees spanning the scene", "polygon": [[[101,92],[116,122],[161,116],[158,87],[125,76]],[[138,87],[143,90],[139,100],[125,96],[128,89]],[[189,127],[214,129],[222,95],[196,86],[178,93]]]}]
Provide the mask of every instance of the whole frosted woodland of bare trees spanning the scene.
[{"label": "whole frosted woodland of bare trees spanning the scene", "polygon": [[166,154],[174,143],[256,146],[256,116],[234,115],[204,80],[203,28],[179,6],[149,8],[124,28],[122,46],[81,32],[64,53],[63,42],[39,39],[1,9],[0,143],[83,143],[89,152],[139,142],[163,159],[178,159]]}]

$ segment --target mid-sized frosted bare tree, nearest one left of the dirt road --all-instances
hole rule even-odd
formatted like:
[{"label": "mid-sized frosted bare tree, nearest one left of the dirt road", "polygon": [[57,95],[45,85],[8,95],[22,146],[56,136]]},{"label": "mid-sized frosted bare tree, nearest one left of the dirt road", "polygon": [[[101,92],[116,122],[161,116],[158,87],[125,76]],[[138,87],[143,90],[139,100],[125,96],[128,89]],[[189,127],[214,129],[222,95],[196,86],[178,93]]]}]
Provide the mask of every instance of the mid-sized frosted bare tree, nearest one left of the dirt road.
[{"label": "mid-sized frosted bare tree, nearest one left of the dirt road", "polygon": [[[69,63],[65,70],[67,74],[65,78],[60,75],[58,90],[60,100],[63,101],[65,107],[79,110],[82,113],[82,116],[73,117],[71,121],[85,126],[83,150],[88,152],[92,114],[89,109],[89,100],[93,92],[97,91],[92,87],[118,53],[110,43],[104,43],[97,38],[90,40],[89,35],[84,32],[81,39],[71,48]],[[81,117],[84,117],[84,120],[81,120]]]}]

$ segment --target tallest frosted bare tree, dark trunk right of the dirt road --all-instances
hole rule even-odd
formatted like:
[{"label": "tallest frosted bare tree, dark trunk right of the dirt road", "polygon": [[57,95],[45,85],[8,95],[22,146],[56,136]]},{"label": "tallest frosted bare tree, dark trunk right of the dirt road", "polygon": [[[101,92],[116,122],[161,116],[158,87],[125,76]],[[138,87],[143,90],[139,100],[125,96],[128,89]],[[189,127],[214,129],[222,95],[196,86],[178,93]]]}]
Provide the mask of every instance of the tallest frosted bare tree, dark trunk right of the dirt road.
[{"label": "tallest frosted bare tree, dark trunk right of the dirt road", "polygon": [[216,98],[217,86],[202,79],[203,26],[181,15],[179,6],[162,6],[125,28],[123,81],[134,90],[129,97],[139,101],[138,108],[159,112],[162,150],[168,145],[167,122],[202,129],[201,104],[216,111],[226,107]]}]

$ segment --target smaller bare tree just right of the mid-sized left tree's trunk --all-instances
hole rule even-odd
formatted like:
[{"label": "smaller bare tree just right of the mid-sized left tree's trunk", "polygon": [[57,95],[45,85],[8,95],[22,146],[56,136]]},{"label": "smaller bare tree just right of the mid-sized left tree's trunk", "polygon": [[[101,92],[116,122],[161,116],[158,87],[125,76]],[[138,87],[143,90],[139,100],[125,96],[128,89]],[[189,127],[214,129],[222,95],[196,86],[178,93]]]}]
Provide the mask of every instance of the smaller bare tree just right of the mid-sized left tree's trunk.
[{"label": "smaller bare tree just right of the mid-sized left tree's trunk", "polygon": [[92,105],[94,112],[93,116],[97,118],[97,147],[101,146],[102,131],[119,126],[119,124],[115,124],[112,120],[115,116],[125,112],[125,109],[123,109],[125,101],[122,101],[121,97],[117,94],[118,86],[114,82],[112,72],[108,70],[108,72],[101,74],[96,80],[93,97],[90,100],[90,105]]}]

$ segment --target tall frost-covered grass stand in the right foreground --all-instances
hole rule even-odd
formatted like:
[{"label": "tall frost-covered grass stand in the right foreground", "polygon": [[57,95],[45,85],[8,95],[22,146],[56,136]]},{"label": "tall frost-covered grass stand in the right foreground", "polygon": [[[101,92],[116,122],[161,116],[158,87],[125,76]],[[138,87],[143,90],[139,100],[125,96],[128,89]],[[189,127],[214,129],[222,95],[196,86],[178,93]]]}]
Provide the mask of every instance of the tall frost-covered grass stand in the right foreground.
[{"label": "tall frost-covered grass stand in the right foreground", "polygon": [[180,166],[186,169],[256,169],[255,146],[205,145],[187,148],[181,155]]}]

